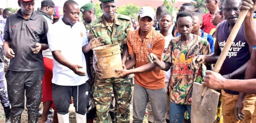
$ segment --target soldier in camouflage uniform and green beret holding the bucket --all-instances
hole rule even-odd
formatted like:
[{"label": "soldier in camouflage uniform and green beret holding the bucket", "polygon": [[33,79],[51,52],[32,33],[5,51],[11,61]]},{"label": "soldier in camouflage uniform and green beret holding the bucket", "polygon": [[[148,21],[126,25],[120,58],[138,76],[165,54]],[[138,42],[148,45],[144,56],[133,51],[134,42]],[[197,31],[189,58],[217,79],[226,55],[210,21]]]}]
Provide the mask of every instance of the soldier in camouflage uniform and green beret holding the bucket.
[{"label": "soldier in camouflage uniform and green beret holding the bucket", "polygon": [[[116,0],[100,0],[100,2],[103,15],[90,24],[90,39],[102,36],[105,40],[105,45],[118,43],[121,48],[122,61],[124,63],[128,57],[126,39],[128,32],[132,29],[130,18],[116,13]],[[95,58],[93,58],[93,60],[95,61]],[[112,92],[114,92],[116,99],[115,123],[129,123],[129,106],[132,90],[131,83],[128,82],[128,76],[120,79],[101,79],[101,70],[97,68],[96,62],[93,64],[94,70],[97,73],[96,82],[94,83],[97,123],[112,122],[109,115]]]}]

